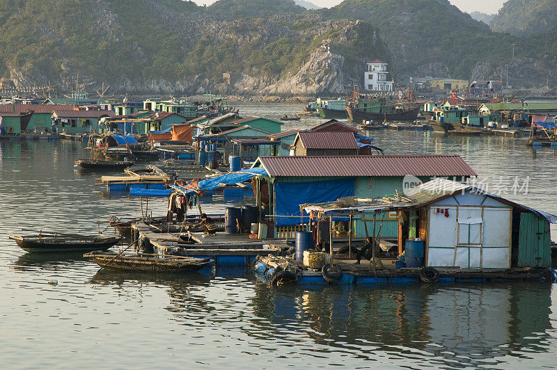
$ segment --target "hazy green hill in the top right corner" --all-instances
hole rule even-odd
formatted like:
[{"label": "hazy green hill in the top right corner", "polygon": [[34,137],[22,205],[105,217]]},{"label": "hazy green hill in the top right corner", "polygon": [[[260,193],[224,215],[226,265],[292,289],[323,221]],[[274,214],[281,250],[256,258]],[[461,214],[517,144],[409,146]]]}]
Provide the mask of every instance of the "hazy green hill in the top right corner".
[{"label": "hazy green hill in the top right corner", "polygon": [[490,25],[519,36],[545,33],[557,26],[557,0],[508,0]]}]

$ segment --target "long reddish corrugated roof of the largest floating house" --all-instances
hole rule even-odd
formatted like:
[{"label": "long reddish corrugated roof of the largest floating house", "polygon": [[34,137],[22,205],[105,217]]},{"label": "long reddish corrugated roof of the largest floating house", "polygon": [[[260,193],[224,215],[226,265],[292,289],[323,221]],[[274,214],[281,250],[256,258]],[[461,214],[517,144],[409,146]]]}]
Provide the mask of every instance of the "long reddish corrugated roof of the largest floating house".
[{"label": "long reddish corrugated roof of the largest floating house", "polygon": [[478,176],[460,156],[262,156],[269,176]]}]

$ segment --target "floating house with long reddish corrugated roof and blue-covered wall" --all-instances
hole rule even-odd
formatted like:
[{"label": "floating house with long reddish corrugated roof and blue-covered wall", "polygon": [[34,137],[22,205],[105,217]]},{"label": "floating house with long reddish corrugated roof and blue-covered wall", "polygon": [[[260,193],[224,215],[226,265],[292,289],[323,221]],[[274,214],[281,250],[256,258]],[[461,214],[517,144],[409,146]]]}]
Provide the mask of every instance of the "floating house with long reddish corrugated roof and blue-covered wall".
[{"label": "floating house with long reddish corrugated roof and blue-covered wall", "polygon": [[[258,167],[267,172],[257,178],[258,205],[271,215],[275,236],[306,230],[309,218],[301,204],[383,196],[403,188],[409,177],[465,182],[477,176],[460,156],[262,156],[253,164]],[[383,224],[382,236],[398,236],[396,213],[380,214],[376,221]],[[354,221],[354,231],[366,235],[362,220]]]}]

